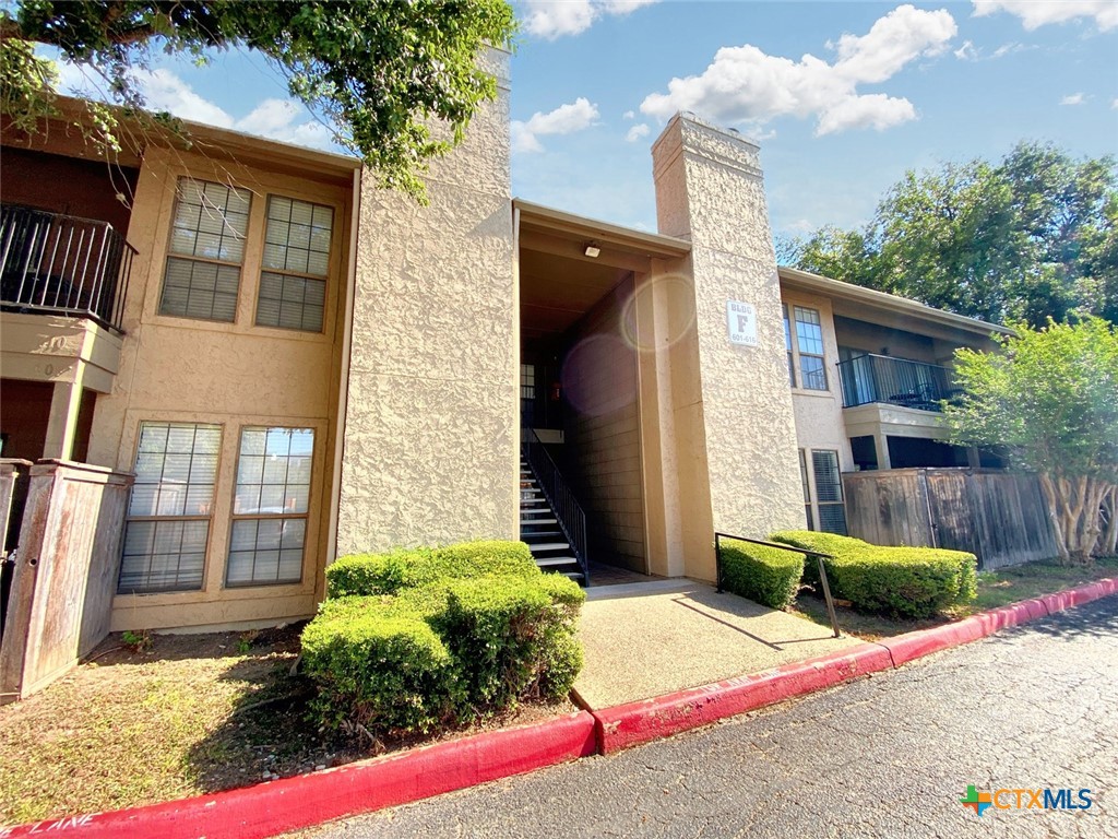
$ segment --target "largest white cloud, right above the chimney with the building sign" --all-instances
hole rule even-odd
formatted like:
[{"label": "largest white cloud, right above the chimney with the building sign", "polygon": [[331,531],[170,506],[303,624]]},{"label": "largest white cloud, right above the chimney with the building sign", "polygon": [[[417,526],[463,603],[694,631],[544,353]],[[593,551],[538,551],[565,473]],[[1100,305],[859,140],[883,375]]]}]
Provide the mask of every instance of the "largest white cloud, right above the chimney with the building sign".
[{"label": "largest white cloud, right above the chimney with the building sign", "polygon": [[853,128],[880,131],[915,120],[916,107],[906,98],[859,94],[858,86],[884,82],[917,58],[939,55],[957,31],[945,10],[901,6],[866,35],[843,35],[834,45],[834,64],[813,55],[794,62],[751,45],[723,47],[701,75],[673,78],[667,93],[650,94],[641,111],[660,119],[694,111],[723,124],[815,116],[817,135]]}]

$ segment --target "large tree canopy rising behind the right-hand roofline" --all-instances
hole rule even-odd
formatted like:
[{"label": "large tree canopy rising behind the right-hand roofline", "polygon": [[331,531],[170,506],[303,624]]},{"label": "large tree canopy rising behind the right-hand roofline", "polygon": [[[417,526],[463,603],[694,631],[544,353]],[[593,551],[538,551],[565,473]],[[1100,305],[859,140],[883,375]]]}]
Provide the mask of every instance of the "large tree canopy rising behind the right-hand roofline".
[{"label": "large tree canopy rising behind the right-hand roofline", "polygon": [[1118,171],[1020,143],[999,163],[909,171],[861,230],[824,227],[788,264],[996,323],[1118,322]]}]

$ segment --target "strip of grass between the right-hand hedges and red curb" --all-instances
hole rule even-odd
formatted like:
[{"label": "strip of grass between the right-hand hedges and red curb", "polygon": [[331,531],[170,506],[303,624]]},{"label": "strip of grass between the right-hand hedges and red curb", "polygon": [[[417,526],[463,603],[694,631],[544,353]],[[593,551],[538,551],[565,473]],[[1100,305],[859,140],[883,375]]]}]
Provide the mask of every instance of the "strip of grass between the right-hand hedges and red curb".
[{"label": "strip of grass between the right-hand hedges and red curb", "polygon": [[[875,641],[913,630],[938,626],[976,612],[1006,606],[1017,601],[1038,597],[1118,575],[1118,557],[1096,559],[1091,566],[1065,566],[1054,559],[1013,565],[996,571],[978,572],[978,594],[969,603],[955,605],[944,613],[919,620],[859,614],[846,606],[836,606],[839,628],[851,635]],[[830,626],[826,604],[822,596],[802,590],[789,611],[802,618]]]}]

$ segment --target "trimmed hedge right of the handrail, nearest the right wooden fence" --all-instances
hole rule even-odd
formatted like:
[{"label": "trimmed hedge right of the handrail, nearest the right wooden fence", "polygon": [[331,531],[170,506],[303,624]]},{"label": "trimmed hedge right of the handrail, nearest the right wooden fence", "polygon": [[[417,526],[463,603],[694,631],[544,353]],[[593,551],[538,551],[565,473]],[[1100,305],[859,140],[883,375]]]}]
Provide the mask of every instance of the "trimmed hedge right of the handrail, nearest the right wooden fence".
[{"label": "trimmed hedge right of the handrail, nearest the right wooden fence", "polygon": [[[831,554],[824,559],[831,592],[859,612],[930,618],[977,594],[974,554],[944,548],[881,547],[812,530],[773,534],[773,541]],[[814,572],[815,563],[808,563]],[[805,575],[817,582],[818,573]]]}]

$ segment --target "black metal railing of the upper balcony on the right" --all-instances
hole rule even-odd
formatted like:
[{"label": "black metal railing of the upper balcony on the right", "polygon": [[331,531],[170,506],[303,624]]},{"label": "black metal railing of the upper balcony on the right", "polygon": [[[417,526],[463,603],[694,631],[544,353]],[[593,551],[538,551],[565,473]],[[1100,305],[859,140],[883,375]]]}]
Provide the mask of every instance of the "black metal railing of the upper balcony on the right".
[{"label": "black metal railing of the upper balcony on the right", "polygon": [[839,362],[842,404],[853,408],[887,403],[920,411],[942,411],[942,400],[959,392],[946,367],[866,353]]}]

